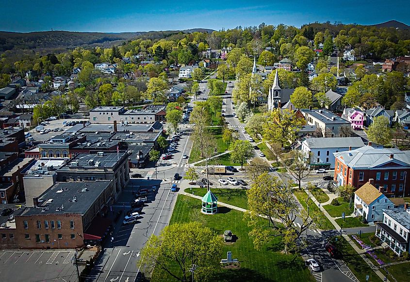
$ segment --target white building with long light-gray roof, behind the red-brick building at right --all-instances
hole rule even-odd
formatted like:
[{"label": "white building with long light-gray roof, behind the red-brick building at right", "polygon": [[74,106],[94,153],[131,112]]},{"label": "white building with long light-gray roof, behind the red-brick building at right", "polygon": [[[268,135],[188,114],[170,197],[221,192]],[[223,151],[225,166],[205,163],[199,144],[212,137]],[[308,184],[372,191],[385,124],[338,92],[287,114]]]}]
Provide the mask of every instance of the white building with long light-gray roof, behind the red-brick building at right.
[{"label": "white building with long light-gray roof, behind the red-brick building at right", "polygon": [[333,153],[358,149],[364,146],[361,137],[307,138],[302,142],[301,150],[310,156],[310,164],[315,167],[333,169]]}]

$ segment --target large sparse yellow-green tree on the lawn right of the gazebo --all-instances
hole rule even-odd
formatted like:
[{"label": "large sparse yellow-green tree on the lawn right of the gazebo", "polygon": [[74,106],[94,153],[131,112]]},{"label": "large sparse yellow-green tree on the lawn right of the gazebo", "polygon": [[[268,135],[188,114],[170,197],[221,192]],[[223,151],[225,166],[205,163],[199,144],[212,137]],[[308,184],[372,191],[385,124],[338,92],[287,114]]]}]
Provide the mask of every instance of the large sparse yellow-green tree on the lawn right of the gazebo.
[{"label": "large sparse yellow-green tree on the lawn right of the gazebo", "polygon": [[[297,252],[300,248],[297,238],[319,217],[308,216],[304,210],[299,214],[291,185],[283,184],[278,177],[267,172],[255,178],[246,196],[248,211],[244,220],[251,227],[248,234],[257,250],[270,243],[272,237],[280,237],[285,253]],[[268,224],[260,224],[261,215]],[[298,216],[302,218],[300,227],[295,224]]]}]

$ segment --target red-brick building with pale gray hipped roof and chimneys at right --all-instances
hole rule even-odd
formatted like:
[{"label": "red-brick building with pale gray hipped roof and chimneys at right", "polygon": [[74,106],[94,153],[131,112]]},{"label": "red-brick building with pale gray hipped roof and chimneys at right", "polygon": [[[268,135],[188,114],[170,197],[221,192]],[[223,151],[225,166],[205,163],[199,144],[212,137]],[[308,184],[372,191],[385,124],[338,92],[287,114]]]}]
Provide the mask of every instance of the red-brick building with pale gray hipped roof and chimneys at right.
[{"label": "red-brick building with pale gray hipped roof and chimneys at right", "polygon": [[389,198],[410,195],[407,180],[410,173],[410,151],[364,146],[333,154],[334,180],[337,185],[349,184],[359,188],[369,179],[374,179],[374,186],[377,189],[383,187],[381,192]]}]

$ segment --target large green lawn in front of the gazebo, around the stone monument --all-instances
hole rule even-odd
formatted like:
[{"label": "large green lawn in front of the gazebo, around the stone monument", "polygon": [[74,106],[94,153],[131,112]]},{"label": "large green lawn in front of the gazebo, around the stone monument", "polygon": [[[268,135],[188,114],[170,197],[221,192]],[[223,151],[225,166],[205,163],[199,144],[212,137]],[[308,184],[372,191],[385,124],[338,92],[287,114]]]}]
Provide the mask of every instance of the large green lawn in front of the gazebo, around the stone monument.
[{"label": "large green lawn in front of the gazebo, around the stone monument", "polygon": [[[223,254],[232,251],[232,258],[240,261],[240,268],[220,269],[215,276],[209,277],[209,281],[218,282],[276,282],[276,281],[306,281],[314,279],[303,260],[294,255],[280,253],[282,246],[279,237],[273,237],[269,246],[257,251],[248,236],[250,228],[243,221],[243,213],[230,210],[225,207],[219,208],[219,214],[205,216],[198,213],[200,200],[187,196],[178,195],[178,200],[171,217],[170,224],[175,222],[199,221],[204,226],[212,228],[218,234],[225,230],[231,230],[238,240],[232,245],[225,245]],[[266,221],[261,219],[261,224]],[[151,282],[175,281],[159,269],[155,269]]]}]

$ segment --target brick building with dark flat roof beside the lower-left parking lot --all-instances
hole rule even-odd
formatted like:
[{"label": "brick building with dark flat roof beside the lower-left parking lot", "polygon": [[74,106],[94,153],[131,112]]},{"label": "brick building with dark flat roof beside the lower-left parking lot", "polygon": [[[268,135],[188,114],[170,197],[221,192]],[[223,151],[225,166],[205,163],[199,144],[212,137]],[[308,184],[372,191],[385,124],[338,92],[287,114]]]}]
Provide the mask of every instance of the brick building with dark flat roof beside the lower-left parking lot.
[{"label": "brick building with dark flat roof beside the lower-left parking lot", "polygon": [[109,211],[112,181],[56,183],[34,199],[35,206],[19,208],[14,220],[2,222],[4,249],[74,249],[84,245],[95,221]]}]

